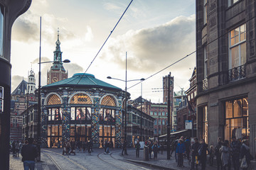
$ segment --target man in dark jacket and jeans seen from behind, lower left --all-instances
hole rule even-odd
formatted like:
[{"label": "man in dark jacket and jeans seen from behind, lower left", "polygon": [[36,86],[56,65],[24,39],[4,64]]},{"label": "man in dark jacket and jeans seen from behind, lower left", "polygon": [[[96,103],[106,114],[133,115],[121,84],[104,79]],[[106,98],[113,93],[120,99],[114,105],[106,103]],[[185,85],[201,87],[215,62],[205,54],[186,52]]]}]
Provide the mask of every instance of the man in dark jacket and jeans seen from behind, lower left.
[{"label": "man in dark jacket and jeans seen from behind, lower left", "polygon": [[33,138],[28,138],[28,145],[24,145],[21,149],[22,162],[24,170],[35,169],[35,159],[37,157],[36,146],[33,145]]}]

